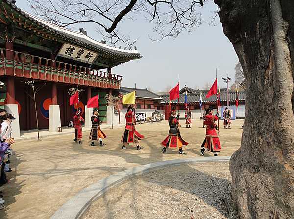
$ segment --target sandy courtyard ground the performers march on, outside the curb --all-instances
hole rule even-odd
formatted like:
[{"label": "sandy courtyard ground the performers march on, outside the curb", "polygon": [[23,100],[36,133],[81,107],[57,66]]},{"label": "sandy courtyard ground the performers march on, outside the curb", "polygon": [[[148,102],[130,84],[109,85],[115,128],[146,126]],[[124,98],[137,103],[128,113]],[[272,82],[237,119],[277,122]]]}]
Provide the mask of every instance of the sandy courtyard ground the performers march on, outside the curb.
[{"label": "sandy courtyard ground the performers march on, outside the curb", "polygon": [[[184,122],[181,121],[183,126]],[[236,120],[232,129],[220,129],[223,147],[220,156],[230,156],[240,147],[243,122]],[[160,142],[167,136],[167,121],[137,125],[137,130],[146,137],[141,141],[145,147],[142,151],[135,147],[121,149],[123,130],[123,127],[103,130],[108,137],[104,140],[106,147],[102,148],[89,146],[89,131],[83,133],[83,145],[73,142],[72,134],[16,142],[12,172],[7,173],[10,182],[0,188],[6,205],[5,211],[0,211],[0,218],[48,219],[78,191],[103,177],[133,166],[200,156],[199,148],[205,137],[202,121],[193,120],[191,129],[181,129],[183,139],[189,142],[184,147],[187,155],[178,154],[177,149],[168,149],[163,154]]]}]

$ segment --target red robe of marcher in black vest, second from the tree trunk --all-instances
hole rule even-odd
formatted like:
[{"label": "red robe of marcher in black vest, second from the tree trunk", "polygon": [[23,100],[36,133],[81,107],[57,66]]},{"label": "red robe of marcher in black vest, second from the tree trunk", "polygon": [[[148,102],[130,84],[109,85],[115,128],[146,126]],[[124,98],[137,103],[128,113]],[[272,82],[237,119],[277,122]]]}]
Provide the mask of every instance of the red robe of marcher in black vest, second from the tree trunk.
[{"label": "red robe of marcher in black vest, second from the tree trunk", "polygon": [[[179,125],[178,120],[172,115],[169,118],[169,125],[170,125],[170,128],[171,126],[174,127],[176,125]],[[161,142],[161,145],[163,147],[182,148],[183,145],[188,145],[188,142],[185,142],[183,140],[179,132],[179,129],[178,129],[178,133],[175,133],[175,134],[173,134],[170,129],[169,135]]]}]

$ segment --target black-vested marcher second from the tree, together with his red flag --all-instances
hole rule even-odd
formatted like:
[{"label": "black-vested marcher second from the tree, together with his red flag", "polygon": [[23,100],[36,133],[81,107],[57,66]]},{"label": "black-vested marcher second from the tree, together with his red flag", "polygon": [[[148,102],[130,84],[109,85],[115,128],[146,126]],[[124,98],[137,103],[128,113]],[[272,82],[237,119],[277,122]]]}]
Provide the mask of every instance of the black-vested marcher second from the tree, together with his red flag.
[{"label": "black-vested marcher second from the tree, together with his red flag", "polygon": [[[179,88],[180,85],[179,83],[177,84],[177,86],[175,86],[174,88],[172,88],[172,90],[170,90],[169,94],[170,94],[170,103],[172,102],[172,100],[174,99],[178,99],[179,101],[179,97],[180,97],[180,92],[179,92]],[[179,119],[180,119],[180,114],[176,115],[176,110],[173,108],[171,110],[171,115],[169,117],[169,135],[161,142],[161,145],[163,146],[162,148],[162,153],[166,153],[167,152],[167,148],[171,147],[171,148],[179,148],[179,154],[186,154],[185,152],[183,152],[183,146],[184,145],[188,145],[188,142],[185,142],[180,134],[180,123],[179,123]]]}]

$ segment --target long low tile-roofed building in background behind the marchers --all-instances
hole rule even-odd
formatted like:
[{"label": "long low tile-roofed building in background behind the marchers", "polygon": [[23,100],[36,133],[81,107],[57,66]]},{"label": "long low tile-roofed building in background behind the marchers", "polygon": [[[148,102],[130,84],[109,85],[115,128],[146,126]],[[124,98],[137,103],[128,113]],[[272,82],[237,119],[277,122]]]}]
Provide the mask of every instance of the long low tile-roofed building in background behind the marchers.
[{"label": "long low tile-roofed building in background behind the marchers", "polygon": [[[200,90],[195,90],[189,87],[187,89],[187,98],[188,98],[188,106],[192,111],[193,119],[199,119],[202,117],[204,109],[208,107],[213,107],[216,109],[217,107],[217,97],[213,95],[209,98],[206,98],[206,94],[208,90],[202,90],[202,106],[200,108]],[[120,93],[120,101],[117,108],[120,111],[120,121],[123,122],[124,114],[127,109],[127,105],[123,105],[123,95],[134,91],[135,88],[126,88],[121,87],[119,90]],[[224,108],[227,106],[227,88],[220,89],[221,93],[221,107],[219,107],[219,111],[222,113]],[[239,106],[238,110],[236,109],[236,92],[229,92],[229,108],[233,110],[233,118],[245,117],[245,91],[241,91],[238,93],[239,96]],[[149,91],[147,88],[145,89],[136,89],[136,112],[138,113],[146,113],[146,116],[151,116],[152,113],[157,110],[160,113],[165,115],[165,119],[168,119],[170,115],[170,110],[172,107],[178,109],[178,100],[173,100],[172,105],[169,105],[169,93],[153,93]],[[185,113],[185,88],[180,90],[180,115],[183,118]],[[221,116],[221,115],[220,115]]]}]

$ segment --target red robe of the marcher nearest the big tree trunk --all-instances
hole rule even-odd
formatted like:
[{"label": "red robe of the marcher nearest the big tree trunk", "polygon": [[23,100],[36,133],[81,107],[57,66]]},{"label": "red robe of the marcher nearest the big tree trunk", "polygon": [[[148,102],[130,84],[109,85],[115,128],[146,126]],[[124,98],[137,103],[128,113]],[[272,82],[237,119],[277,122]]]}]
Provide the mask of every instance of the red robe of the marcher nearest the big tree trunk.
[{"label": "red robe of the marcher nearest the big tree trunk", "polygon": [[201,147],[207,148],[210,152],[220,152],[221,142],[216,129],[215,121],[218,120],[216,115],[206,115],[204,125],[206,125],[206,135]]}]

